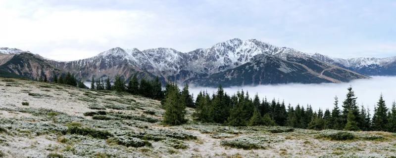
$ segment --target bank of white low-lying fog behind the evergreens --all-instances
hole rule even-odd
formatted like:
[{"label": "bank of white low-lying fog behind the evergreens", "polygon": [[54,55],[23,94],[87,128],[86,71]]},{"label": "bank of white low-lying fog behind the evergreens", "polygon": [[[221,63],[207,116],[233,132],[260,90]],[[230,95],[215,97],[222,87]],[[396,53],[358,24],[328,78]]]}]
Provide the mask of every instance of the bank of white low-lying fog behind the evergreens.
[{"label": "bank of white low-lying fog behind the evergreens", "polygon": [[[285,100],[285,104],[311,104],[314,110],[333,109],[334,97],[339,99],[339,107],[346,98],[347,88],[352,86],[359,107],[369,106],[371,113],[374,105],[377,104],[382,93],[388,108],[392,107],[392,102],[396,99],[396,77],[372,77],[373,79],[356,79],[349,83],[321,83],[321,84],[279,84],[279,85],[259,85],[224,88],[228,94],[234,94],[238,90],[248,91],[250,97],[257,93],[260,98]],[[190,92],[197,97],[200,90],[207,90],[209,93],[217,91],[217,88],[190,87]],[[341,108],[342,109],[342,108]]]}]

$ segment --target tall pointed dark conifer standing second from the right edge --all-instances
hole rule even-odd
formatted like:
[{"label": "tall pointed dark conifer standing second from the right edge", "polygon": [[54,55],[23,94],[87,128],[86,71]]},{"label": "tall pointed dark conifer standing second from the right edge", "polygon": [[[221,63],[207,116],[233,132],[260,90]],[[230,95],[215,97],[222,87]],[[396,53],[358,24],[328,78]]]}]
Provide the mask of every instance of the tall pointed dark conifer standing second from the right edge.
[{"label": "tall pointed dark conifer standing second from the right edge", "polygon": [[386,125],[388,124],[388,108],[385,105],[382,94],[374,110],[373,116],[373,130],[375,131],[386,131]]}]

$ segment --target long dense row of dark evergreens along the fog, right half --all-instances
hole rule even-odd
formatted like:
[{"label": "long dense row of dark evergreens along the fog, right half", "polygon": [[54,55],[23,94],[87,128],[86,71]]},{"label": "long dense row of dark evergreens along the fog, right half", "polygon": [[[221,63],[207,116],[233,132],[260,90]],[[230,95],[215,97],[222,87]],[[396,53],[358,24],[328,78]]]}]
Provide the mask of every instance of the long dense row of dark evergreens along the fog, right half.
[{"label": "long dense row of dark evergreens along the fog, right half", "polygon": [[290,104],[284,101],[264,98],[260,101],[256,94],[253,99],[248,92],[238,91],[228,95],[221,85],[215,94],[201,91],[196,99],[196,111],[193,117],[201,122],[223,123],[231,126],[280,125],[303,129],[338,129],[353,131],[389,131],[396,132],[396,105],[388,110],[383,96],[375,106],[374,116],[370,110],[359,108],[356,104],[352,87],[347,88],[346,99],[339,108],[339,101],[335,97],[334,109],[313,111],[310,105],[306,107]]}]

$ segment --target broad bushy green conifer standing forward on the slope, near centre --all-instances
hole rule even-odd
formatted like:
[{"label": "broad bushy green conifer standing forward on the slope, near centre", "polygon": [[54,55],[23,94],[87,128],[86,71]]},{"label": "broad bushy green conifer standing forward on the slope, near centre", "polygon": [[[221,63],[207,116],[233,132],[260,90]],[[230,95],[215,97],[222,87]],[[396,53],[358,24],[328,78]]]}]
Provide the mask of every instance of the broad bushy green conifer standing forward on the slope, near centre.
[{"label": "broad bushy green conifer standing forward on the slope, near centre", "polygon": [[183,98],[180,97],[180,90],[176,84],[172,84],[168,89],[168,96],[165,103],[165,113],[163,122],[170,125],[179,125],[185,123],[186,106]]}]

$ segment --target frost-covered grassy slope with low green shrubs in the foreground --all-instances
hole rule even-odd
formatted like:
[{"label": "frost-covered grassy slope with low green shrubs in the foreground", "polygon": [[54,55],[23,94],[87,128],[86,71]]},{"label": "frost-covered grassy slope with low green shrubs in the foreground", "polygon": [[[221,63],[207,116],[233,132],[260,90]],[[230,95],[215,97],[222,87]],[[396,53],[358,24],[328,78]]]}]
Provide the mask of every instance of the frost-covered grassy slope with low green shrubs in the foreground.
[{"label": "frost-covered grassy slope with low green shrubs in the foreground", "polygon": [[[0,157],[4,158],[392,158],[396,134],[164,124],[158,100],[127,92],[0,79]],[[26,103],[28,102],[28,104]]]}]

